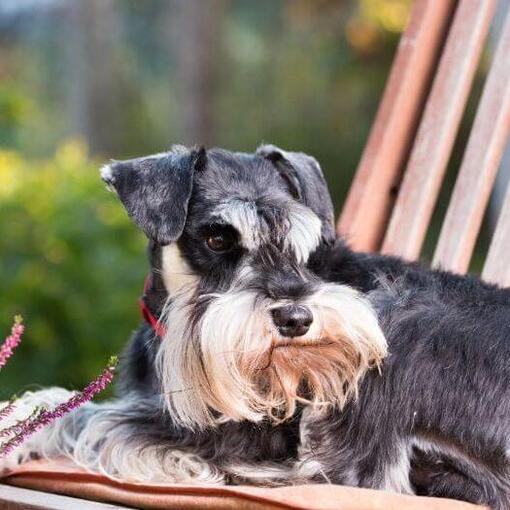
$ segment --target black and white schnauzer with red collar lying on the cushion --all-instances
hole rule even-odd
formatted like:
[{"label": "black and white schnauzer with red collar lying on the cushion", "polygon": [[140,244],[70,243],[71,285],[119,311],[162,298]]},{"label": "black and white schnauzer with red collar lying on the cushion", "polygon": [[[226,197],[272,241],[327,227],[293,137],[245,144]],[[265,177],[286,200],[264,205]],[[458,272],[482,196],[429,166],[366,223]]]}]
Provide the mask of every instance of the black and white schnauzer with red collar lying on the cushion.
[{"label": "black and white schnauzer with red collar lying on the cushion", "polygon": [[[311,156],[174,146],[101,171],[149,240],[117,396],[2,461],[338,483],[510,508],[510,292],[355,253]],[[68,398],[27,393],[12,420]],[[8,425],[8,424],[7,424]]]}]

